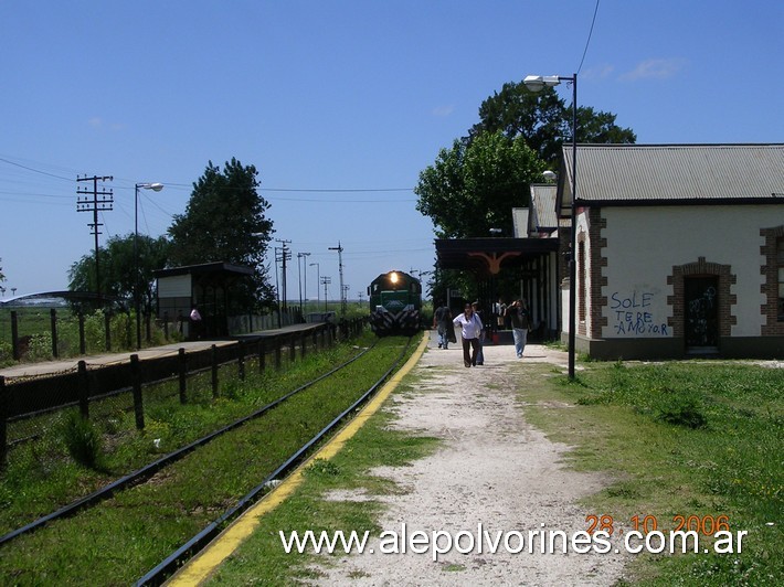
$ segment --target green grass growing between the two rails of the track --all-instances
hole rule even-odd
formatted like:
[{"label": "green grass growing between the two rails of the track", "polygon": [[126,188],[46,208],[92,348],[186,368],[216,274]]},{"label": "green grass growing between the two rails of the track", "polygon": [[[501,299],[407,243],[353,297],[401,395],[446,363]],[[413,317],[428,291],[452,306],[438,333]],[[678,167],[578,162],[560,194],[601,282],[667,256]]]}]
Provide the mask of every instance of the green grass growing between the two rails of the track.
[{"label": "green grass growing between the two rails of the track", "polygon": [[[372,359],[298,394],[269,417],[213,440],[147,483],[13,541],[2,548],[0,577],[12,584],[133,581],[330,421],[388,369],[400,344],[385,339]],[[320,474],[331,476],[328,469]]]}]

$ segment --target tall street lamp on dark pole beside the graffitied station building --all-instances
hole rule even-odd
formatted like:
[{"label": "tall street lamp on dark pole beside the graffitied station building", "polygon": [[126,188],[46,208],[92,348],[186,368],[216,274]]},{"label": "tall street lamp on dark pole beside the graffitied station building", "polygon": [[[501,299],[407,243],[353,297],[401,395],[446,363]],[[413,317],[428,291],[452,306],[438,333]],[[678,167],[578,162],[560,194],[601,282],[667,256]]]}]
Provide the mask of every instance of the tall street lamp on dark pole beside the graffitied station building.
[{"label": "tall street lamp on dark pole beside the graffitied station building", "polygon": [[560,75],[529,75],[522,83],[531,92],[540,92],[544,86],[553,87],[561,82],[572,83],[572,202],[571,202],[571,234],[569,237],[569,378],[574,380],[574,343],[576,334],[576,259],[578,249],[578,74],[572,76]]}]

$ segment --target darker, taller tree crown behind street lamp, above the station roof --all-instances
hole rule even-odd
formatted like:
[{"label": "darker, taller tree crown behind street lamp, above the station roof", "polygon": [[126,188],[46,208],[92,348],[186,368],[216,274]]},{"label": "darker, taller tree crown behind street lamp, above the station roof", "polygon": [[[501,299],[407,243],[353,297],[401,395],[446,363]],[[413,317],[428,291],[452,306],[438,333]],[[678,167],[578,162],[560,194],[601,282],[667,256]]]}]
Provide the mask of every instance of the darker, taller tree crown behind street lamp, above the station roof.
[{"label": "darker, taller tree crown behind street lamp, above the station roof", "polygon": [[[578,142],[635,142],[629,128],[615,124],[616,115],[578,106]],[[531,92],[522,82],[504,84],[500,92],[479,107],[480,121],[469,130],[469,140],[483,132],[500,130],[507,137],[523,137],[551,168],[558,169],[564,138],[572,137],[572,107],[552,87]]]}]

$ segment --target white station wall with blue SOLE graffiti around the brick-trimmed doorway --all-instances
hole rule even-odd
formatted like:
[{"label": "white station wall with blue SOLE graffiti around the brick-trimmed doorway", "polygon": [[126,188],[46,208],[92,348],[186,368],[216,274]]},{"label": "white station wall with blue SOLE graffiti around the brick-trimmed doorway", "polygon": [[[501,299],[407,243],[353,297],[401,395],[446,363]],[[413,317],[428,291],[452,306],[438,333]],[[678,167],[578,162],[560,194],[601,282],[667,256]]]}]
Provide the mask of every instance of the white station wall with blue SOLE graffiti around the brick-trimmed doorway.
[{"label": "white station wall with blue SOLE graffiti around the brick-trimmed doorway", "polygon": [[[667,277],[674,265],[696,263],[698,257],[730,265],[737,276],[730,289],[738,300],[731,307],[738,319],[731,335],[761,334],[764,317],[760,307],[765,298],[760,268],[765,259],[760,253],[764,244],[760,228],[784,224],[783,206],[605,207],[602,216],[607,221],[602,231],[607,239],[603,250],[607,257],[603,268],[607,286],[602,287],[607,297],[603,338],[672,337],[667,325],[672,316],[667,305],[672,286]],[[590,276],[590,268],[587,271]]]}]

